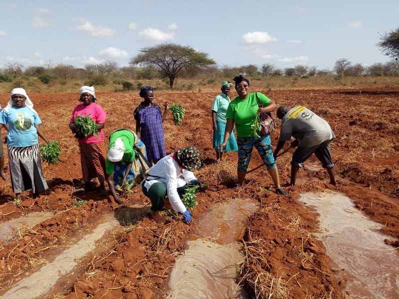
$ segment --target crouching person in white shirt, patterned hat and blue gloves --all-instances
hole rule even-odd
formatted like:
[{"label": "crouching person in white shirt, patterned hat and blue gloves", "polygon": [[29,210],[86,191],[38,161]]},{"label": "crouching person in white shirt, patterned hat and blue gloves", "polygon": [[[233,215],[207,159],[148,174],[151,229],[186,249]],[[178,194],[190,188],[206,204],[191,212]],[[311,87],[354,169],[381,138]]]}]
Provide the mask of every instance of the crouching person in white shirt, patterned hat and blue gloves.
[{"label": "crouching person in white shirt, patterned hat and blue gloves", "polygon": [[[182,213],[184,219],[191,223],[191,213],[182,201],[185,190],[191,185],[201,185],[193,170],[201,165],[200,152],[194,147],[180,148],[178,151],[163,157],[153,165],[142,181],[144,195],[151,200],[151,216],[157,223],[165,223],[160,211],[166,207]],[[169,202],[165,202],[168,195]]]}]

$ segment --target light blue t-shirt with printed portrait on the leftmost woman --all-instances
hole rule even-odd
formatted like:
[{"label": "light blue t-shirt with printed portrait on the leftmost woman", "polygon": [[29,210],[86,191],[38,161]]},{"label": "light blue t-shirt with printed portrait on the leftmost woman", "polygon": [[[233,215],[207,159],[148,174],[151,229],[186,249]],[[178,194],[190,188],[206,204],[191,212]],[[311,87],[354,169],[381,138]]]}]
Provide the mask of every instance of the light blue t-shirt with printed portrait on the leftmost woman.
[{"label": "light blue t-shirt with printed portrait on the leftmost woman", "polygon": [[41,124],[41,120],[29,108],[12,106],[8,113],[2,110],[0,123],[9,126],[8,146],[22,148],[37,144],[37,130],[34,126]]}]

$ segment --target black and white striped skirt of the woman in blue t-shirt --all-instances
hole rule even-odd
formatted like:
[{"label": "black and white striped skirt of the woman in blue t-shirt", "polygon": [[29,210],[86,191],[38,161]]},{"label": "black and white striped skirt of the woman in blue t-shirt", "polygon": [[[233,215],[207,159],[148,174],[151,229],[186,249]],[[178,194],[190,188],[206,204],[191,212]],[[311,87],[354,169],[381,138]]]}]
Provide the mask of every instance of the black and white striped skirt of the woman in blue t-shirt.
[{"label": "black and white striped skirt of the woman in blue t-shirt", "polygon": [[41,170],[39,144],[7,148],[12,191],[21,193],[32,189],[33,193],[40,193],[46,190],[48,186]]}]

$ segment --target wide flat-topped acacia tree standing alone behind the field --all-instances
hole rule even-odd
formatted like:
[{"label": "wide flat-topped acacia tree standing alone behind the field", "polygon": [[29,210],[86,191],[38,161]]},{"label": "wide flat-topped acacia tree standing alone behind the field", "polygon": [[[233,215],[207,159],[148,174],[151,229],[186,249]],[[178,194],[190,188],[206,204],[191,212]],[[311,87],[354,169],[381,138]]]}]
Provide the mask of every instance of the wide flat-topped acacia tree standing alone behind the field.
[{"label": "wide flat-topped acacia tree standing alone behind the field", "polygon": [[190,46],[164,43],[153,47],[142,48],[140,54],[132,58],[131,65],[155,66],[164,77],[169,78],[173,89],[175,79],[185,70],[201,70],[207,65],[215,64],[208,54],[198,52]]}]

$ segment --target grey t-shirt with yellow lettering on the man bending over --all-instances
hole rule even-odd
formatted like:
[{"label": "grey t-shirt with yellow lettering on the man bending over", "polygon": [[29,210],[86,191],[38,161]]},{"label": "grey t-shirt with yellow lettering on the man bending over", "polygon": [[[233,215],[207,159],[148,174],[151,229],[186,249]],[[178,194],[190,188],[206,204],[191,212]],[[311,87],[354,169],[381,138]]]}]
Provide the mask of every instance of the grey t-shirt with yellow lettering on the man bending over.
[{"label": "grey t-shirt with yellow lettering on the man bending over", "polygon": [[303,106],[288,110],[281,120],[279,141],[299,140],[300,147],[317,146],[335,138],[330,125],[314,112]]}]

